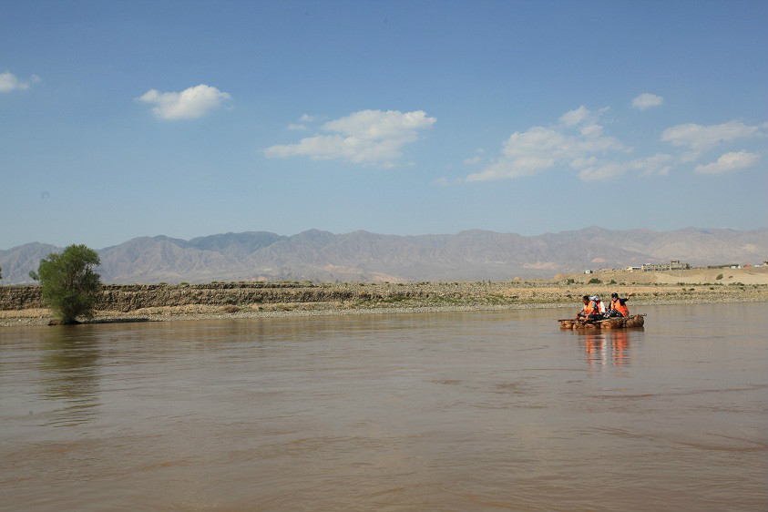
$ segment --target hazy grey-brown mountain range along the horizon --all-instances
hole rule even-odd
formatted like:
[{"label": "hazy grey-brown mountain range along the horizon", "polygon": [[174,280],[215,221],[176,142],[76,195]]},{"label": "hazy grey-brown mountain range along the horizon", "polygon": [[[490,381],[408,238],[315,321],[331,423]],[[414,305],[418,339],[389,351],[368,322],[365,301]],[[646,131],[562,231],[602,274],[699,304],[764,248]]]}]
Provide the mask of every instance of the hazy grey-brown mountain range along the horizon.
[{"label": "hazy grey-brown mountain range along the horizon", "polygon": [[[0,251],[0,283],[32,282],[28,272],[55,251],[61,248],[37,242]],[[660,232],[591,227],[533,237],[484,230],[419,236],[308,230],[290,237],[248,231],[189,241],[141,237],[98,254],[102,281],[114,283],[501,281],[670,260],[760,263],[768,259],[768,228]]]}]

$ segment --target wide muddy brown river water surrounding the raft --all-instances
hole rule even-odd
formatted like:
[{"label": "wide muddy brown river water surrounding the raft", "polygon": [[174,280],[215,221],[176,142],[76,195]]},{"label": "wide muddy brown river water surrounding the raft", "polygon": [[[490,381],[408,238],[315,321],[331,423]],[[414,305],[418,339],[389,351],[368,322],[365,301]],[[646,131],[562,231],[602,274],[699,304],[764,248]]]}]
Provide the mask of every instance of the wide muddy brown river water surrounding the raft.
[{"label": "wide muddy brown river water surrounding the raft", "polygon": [[4,510],[765,510],[768,305],[0,329]]}]

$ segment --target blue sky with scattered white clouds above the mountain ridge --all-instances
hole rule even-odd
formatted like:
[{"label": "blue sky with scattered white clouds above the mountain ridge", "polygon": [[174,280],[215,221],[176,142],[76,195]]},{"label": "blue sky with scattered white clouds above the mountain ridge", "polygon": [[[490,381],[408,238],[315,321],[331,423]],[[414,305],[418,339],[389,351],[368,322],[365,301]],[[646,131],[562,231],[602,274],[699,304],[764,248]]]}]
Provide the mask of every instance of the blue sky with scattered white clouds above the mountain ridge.
[{"label": "blue sky with scattered white clouds above the mountain ridge", "polygon": [[0,249],[768,223],[764,1],[0,14]]}]

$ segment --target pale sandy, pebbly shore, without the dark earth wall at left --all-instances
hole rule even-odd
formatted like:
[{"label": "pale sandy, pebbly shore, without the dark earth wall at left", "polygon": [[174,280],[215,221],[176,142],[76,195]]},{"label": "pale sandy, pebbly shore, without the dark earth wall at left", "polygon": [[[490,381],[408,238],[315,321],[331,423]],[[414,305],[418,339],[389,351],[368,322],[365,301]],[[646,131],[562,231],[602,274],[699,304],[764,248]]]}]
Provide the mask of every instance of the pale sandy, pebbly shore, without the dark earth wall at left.
[{"label": "pale sandy, pebbly shore, without the dark earth wall at left", "polygon": [[[635,273],[610,271],[589,275],[560,274],[552,280],[516,279],[512,282],[312,283],[304,286],[311,288],[314,294],[309,300],[291,300],[297,292],[302,293],[302,289],[292,288],[287,290],[291,294],[275,296],[272,302],[240,301],[223,305],[188,303],[120,312],[97,311],[89,322],[167,322],[540,308],[566,308],[568,311],[563,314],[569,316],[569,310],[579,310],[582,295],[597,293],[607,302],[611,292],[619,292],[623,297],[630,291],[634,292],[630,299],[630,311],[641,312],[641,307],[648,304],[768,302],[768,269]],[[306,296],[306,293],[302,296]],[[313,300],[312,296],[329,298]],[[346,299],[333,299],[338,296]],[[11,309],[0,311],[0,326],[45,325],[51,318],[51,312],[43,308]]]}]

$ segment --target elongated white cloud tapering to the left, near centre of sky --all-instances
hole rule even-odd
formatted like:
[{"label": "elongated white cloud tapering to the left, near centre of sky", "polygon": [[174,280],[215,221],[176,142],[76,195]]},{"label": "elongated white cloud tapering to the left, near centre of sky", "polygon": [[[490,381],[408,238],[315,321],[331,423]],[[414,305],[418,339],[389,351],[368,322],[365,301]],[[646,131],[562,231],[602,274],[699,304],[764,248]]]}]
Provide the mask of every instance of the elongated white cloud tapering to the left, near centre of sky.
[{"label": "elongated white cloud tapering to the left, near centre of sky", "polygon": [[416,130],[430,128],[435,118],[423,110],[361,110],[329,121],[321,127],[328,134],[302,138],[294,144],[264,149],[270,158],[303,155],[311,159],[342,159],[375,167],[393,167],[403,157],[405,144],[418,138]]}]

